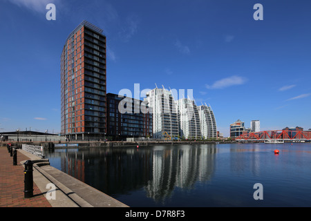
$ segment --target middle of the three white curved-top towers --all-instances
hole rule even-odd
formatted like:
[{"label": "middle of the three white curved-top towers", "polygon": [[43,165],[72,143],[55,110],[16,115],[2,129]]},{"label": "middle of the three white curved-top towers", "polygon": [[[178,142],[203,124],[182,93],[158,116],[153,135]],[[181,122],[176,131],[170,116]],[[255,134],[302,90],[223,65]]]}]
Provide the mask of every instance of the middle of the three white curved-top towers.
[{"label": "middle of the three white curved-top towers", "polygon": [[176,101],[178,109],[179,135],[181,138],[200,139],[200,117],[196,103],[191,99],[183,98]]}]

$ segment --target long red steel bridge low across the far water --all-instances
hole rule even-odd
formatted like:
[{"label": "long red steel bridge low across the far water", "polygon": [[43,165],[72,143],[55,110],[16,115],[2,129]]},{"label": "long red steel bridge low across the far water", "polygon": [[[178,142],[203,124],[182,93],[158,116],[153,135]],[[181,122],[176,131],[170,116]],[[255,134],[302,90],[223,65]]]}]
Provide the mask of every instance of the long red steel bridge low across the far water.
[{"label": "long red steel bridge low across the far water", "polygon": [[283,140],[288,142],[303,142],[311,140],[311,131],[290,131],[290,130],[276,130],[276,131],[260,131],[243,133],[235,138],[236,141],[259,142],[267,140]]}]

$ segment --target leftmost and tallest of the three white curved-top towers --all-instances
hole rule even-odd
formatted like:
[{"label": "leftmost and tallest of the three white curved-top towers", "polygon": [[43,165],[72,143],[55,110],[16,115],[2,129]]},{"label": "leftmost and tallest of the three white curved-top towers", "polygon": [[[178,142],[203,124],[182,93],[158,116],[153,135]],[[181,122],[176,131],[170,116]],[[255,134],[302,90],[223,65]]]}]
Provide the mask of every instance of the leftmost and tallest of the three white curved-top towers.
[{"label": "leftmost and tallest of the three white curved-top towers", "polygon": [[171,91],[164,88],[149,90],[144,102],[152,108],[153,138],[177,138],[178,113]]}]

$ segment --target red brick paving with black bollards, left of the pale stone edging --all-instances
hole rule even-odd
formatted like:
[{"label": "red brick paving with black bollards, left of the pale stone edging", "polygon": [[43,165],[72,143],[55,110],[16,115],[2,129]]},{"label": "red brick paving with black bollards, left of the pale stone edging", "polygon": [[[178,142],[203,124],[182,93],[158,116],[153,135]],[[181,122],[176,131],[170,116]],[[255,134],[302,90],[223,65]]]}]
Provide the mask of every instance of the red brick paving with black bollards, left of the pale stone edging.
[{"label": "red brick paving with black bollards, left of the pale stone edging", "polygon": [[17,151],[17,165],[13,166],[8,148],[0,146],[0,207],[52,207],[33,183],[33,197],[24,198],[24,168],[21,161],[28,157]]}]

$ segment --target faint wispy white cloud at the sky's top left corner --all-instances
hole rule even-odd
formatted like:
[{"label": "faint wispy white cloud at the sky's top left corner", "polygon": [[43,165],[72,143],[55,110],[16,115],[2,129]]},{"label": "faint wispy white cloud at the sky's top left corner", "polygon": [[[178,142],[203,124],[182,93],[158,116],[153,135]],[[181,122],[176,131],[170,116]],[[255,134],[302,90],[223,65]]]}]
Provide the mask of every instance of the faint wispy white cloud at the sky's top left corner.
[{"label": "faint wispy white cloud at the sky's top left corner", "polygon": [[[47,12],[46,5],[48,3],[57,3],[58,0],[8,0],[19,7],[26,7],[36,12]],[[57,7],[57,6],[56,6]]]}]

